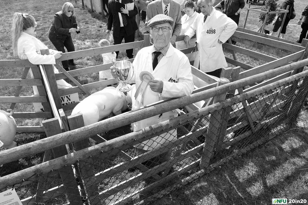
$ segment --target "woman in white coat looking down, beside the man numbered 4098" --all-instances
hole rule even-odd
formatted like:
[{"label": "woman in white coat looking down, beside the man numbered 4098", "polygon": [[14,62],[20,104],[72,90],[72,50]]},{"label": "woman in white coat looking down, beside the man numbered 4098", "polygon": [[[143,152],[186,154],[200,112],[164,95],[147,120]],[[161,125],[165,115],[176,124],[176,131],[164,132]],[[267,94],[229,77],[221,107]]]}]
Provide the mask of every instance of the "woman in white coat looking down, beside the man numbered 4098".
[{"label": "woman in white coat looking down, beside the man numbered 4098", "polygon": [[[180,35],[185,34],[185,32],[189,29],[189,27],[193,25],[193,22],[198,16],[198,13],[196,12],[195,9],[195,4],[191,0],[188,0],[184,3],[184,12],[185,14],[181,18],[182,29]],[[184,41],[177,41],[175,45],[178,50],[181,50],[193,47],[195,45],[195,41],[196,39],[191,39],[188,45],[186,45]],[[196,58],[195,53],[186,54],[186,56],[188,57],[189,61],[194,61]]]}]

